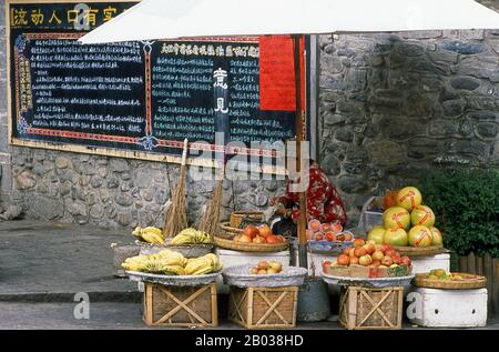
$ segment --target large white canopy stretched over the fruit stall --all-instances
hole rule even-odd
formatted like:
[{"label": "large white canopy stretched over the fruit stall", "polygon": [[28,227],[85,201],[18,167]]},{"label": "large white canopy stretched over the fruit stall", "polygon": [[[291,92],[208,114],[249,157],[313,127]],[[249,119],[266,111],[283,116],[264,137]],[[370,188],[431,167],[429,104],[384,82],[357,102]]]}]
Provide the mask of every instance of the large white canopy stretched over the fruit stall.
[{"label": "large white canopy stretched over the fruit stall", "polygon": [[80,41],[438,29],[499,29],[499,14],[473,0],[143,0]]}]

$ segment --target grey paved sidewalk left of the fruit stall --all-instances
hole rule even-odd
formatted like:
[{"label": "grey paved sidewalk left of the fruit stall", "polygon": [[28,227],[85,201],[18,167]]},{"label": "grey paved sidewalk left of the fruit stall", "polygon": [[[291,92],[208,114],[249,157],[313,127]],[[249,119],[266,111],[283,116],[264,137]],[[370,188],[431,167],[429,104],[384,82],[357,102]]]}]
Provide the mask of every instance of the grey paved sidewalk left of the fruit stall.
[{"label": "grey paved sidewalk left of the fruit stall", "polygon": [[111,243],[130,234],[77,224],[0,222],[0,301],[136,301],[136,283],[113,276]]}]

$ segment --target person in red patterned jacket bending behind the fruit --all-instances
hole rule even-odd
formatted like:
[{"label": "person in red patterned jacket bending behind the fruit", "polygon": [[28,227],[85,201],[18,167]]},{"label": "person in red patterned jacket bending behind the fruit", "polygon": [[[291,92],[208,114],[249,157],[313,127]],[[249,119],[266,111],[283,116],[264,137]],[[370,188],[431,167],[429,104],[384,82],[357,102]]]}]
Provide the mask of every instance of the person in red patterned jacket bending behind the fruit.
[{"label": "person in red patterned jacket bending behind the fruit", "polygon": [[[298,193],[291,192],[291,183],[292,180],[287,182],[284,195],[271,200],[273,207],[282,204],[277,210],[282,220],[273,224],[274,233],[296,235],[296,221],[299,218]],[[347,221],[342,198],[315,161],[310,161],[307,190],[307,221],[313,219],[322,223],[339,222],[342,225]]]}]

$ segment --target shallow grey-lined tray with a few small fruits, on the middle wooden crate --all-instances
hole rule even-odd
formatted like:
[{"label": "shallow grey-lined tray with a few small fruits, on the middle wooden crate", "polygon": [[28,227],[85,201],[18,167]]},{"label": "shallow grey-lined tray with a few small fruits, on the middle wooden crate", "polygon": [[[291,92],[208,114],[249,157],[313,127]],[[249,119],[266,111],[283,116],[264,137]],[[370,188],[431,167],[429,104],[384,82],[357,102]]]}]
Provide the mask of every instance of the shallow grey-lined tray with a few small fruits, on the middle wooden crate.
[{"label": "shallow grey-lined tray with a few small fruits, on the middle wooden crate", "polygon": [[251,274],[254,265],[236,265],[224,269],[222,276],[231,286],[238,288],[285,288],[301,286],[308,274],[305,268],[285,266],[278,274]]}]

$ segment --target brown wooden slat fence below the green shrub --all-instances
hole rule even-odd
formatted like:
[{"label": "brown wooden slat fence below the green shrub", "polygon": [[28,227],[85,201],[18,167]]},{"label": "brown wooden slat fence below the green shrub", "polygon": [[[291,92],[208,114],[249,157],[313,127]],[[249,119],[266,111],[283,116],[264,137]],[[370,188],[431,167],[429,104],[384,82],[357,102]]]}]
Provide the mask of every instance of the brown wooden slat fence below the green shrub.
[{"label": "brown wooden slat fence below the green shrub", "polygon": [[499,259],[475,253],[459,257],[459,271],[487,278],[489,315],[499,314]]}]

